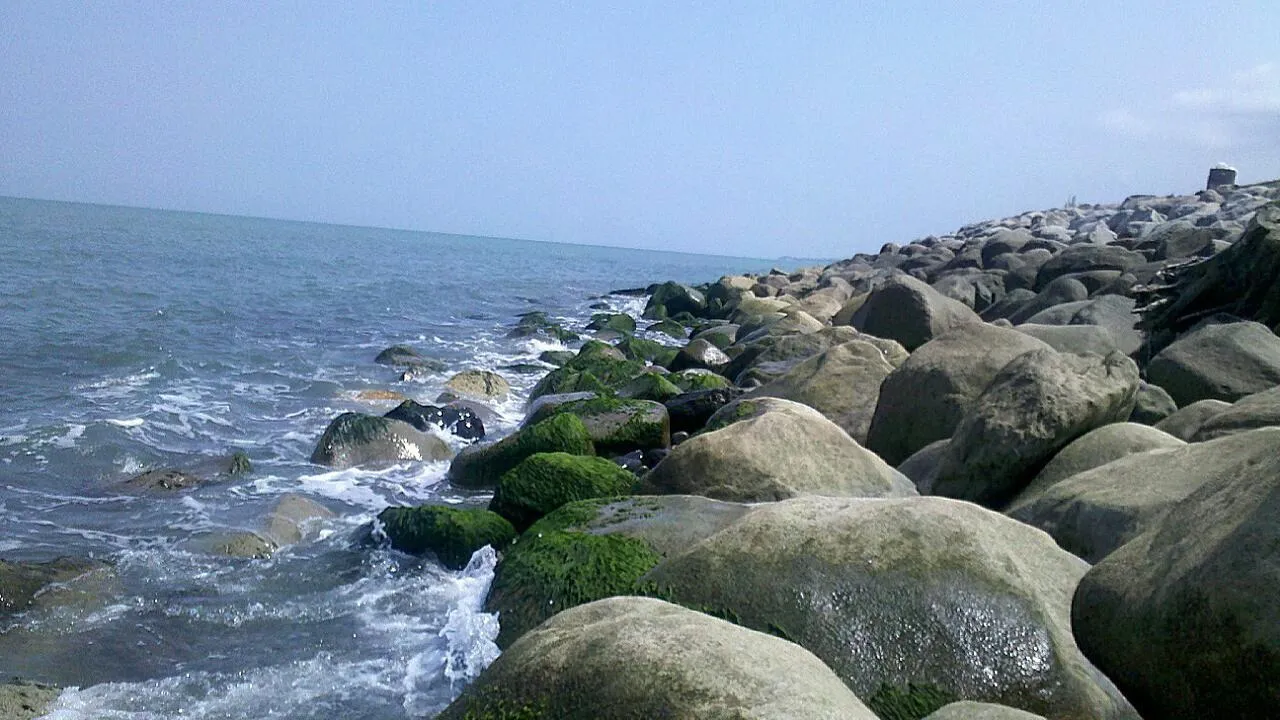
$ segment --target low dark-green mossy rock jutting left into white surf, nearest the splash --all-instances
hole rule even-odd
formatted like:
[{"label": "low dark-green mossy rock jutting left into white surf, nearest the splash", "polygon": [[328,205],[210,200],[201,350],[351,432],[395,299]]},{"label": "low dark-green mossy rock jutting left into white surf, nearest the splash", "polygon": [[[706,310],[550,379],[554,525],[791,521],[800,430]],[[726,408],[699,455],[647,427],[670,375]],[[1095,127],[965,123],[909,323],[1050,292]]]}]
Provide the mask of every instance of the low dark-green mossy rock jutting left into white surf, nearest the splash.
[{"label": "low dark-green mossy rock jutting left into white surf, nearest the splash", "polygon": [[388,507],[378,521],[392,547],[421,555],[433,552],[451,570],[467,566],[471,555],[484,546],[502,550],[516,538],[516,529],[506,518],[479,507]]}]

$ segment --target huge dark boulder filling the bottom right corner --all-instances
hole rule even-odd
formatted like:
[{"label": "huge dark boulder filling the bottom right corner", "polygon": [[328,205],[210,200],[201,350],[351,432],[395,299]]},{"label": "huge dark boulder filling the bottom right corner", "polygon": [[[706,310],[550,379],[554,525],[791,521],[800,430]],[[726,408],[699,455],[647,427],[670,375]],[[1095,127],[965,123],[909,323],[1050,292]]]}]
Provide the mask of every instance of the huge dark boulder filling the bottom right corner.
[{"label": "huge dark boulder filling the bottom right corner", "polygon": [[1148,720],[1280,707],[1280,429],[1212,442],[1240,445],[1098,562],[1071,607],[1080,648]]}]

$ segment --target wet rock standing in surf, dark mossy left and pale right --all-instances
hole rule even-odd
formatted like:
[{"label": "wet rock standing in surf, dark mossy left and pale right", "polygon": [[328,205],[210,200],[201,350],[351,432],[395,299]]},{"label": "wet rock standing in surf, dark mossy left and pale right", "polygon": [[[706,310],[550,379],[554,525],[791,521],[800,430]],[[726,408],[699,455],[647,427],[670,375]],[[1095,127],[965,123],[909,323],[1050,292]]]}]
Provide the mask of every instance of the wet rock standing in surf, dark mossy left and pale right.
[{"label": "wet rock standing in surf, dark mossy left and pale right", "polygon": [[311,462],[342,470],[404,460],[448,460],[452,456],[453,450],[447,442],[403,420],[343,413],[320,436]]}]

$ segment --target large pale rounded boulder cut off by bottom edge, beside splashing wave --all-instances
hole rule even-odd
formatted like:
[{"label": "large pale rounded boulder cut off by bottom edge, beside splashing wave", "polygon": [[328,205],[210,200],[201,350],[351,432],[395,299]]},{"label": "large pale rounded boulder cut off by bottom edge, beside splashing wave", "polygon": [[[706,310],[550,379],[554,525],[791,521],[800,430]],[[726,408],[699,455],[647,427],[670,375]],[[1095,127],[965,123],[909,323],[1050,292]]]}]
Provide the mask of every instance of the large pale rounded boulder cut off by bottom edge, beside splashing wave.
[{"label": "large pale rounded boulder cut off by bottom edge, beside splashing wave", "polygon": [[645,597],[552,618],[439,717],[877,720],[803,647]]}]

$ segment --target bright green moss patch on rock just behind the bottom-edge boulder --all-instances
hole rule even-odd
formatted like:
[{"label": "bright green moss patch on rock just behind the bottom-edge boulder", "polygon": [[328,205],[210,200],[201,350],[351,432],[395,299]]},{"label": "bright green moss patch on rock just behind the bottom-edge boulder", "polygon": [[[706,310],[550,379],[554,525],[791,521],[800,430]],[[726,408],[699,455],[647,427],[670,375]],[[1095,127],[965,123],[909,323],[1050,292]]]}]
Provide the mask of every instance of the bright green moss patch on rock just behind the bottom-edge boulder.
[{"label": "bright green moss patch on rock just behind the bottom-edge boulder", "polygon": [[577,529],[607,502],[564,505],[534,523],[503,553],[485,602],[499,614],[499,647],[561,610],[632,594],[637,580],[658,564],[660,556],[644,541]]}]

